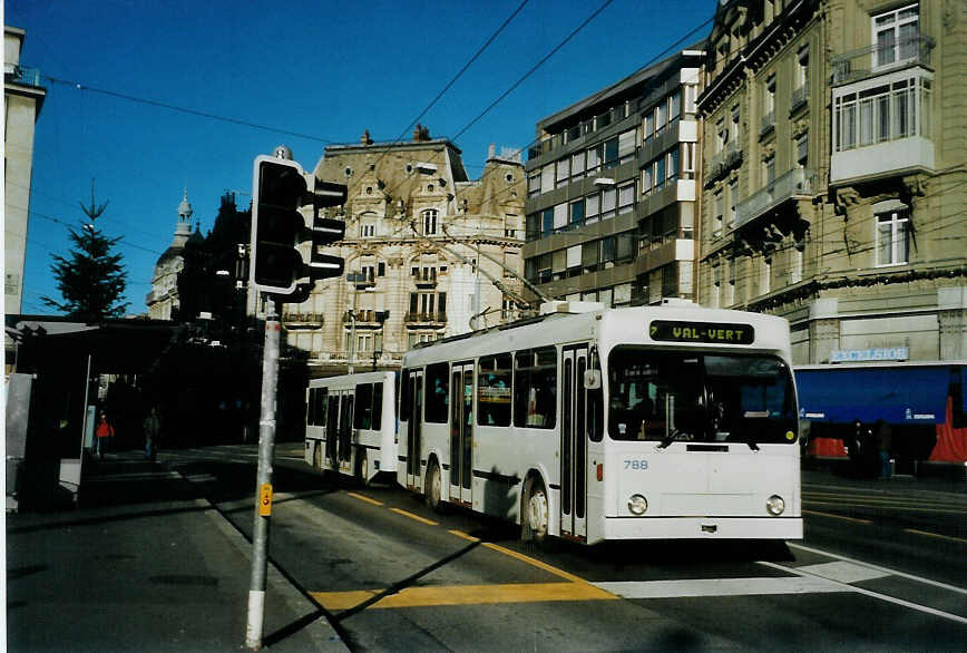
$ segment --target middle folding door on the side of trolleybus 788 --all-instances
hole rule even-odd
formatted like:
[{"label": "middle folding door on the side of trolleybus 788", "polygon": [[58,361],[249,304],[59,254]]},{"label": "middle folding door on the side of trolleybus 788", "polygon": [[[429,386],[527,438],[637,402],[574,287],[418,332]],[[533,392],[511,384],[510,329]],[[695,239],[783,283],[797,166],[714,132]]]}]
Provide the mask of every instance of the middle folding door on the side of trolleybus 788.
[{"label": "middle folding door on the side of trolleybus 788", "polygon": [[456,363],[450,376],[450,500],[472,505],[473,363]]}]

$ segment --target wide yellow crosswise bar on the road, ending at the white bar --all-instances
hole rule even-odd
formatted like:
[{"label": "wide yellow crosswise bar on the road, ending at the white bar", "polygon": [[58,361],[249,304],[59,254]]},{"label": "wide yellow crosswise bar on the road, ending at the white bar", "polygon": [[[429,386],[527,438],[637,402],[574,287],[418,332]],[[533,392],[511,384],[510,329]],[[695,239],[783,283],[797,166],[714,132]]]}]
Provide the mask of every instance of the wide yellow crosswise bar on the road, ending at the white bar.
[{"label": "wide yellow crosswise bar on the road, ending at the white bar", "polygon": [[[369,601],[381,589],[358,592],[311,592],[322,607],[349,610]],[[384,596],[370,608],[430,607],[441,605],[481,605],[494,603],[537,603],[547,601],[606,601],[616,595],[589,583],[508,583],[502,585],[453,585],[407,587]]]}]

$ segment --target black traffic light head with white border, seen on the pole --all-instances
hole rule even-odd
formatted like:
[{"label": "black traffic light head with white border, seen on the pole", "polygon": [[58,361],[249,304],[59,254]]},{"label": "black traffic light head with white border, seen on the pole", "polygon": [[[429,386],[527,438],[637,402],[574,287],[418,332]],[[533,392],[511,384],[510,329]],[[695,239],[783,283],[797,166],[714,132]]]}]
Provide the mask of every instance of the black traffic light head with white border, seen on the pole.
[{"label": "black traffic light head with white border, seen on the pole", "polygon": [[[315,280],[342,275],[343,260],[320,254],[319,247],[341,241],[345,225],[319,216],[306,220],[299,208],[344,204],[346,187],[316,182],[310,191],[302,166],[283,158],[258,156],[254,168],[252,284],[283,301],[305,301]],[[305,241],[312,241],[307,256],[299,250]]]}]

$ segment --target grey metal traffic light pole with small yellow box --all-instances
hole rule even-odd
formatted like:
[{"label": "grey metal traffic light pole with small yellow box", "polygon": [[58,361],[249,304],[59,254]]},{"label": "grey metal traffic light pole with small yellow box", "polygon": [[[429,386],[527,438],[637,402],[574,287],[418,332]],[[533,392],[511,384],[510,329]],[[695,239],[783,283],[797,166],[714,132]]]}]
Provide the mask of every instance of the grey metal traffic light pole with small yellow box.
[{"label": "grey metal traffic light pole with small yellow box", "polygon": [[262,355],[262,416],[258,420],[258,474],[255,524],[252,529],[252,582],[248,585],[248,623],[245,645],[262,647],[265,614],[265,571],[268,562],[268,519],[272,516],[272,460],[275,450],[275,394],[279,380],[279,321],[276,302],[270,295],[265,315],[265,349]]}]

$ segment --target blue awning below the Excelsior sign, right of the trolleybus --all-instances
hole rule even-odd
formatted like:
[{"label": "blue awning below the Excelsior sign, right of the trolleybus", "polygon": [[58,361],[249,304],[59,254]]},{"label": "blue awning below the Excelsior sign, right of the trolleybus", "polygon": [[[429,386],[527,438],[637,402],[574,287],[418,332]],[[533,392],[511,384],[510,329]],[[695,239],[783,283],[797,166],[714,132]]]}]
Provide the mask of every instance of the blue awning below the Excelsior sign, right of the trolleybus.
[{"label": "blue awning below the Excelsior sign, right of the trolleybus", "polygon": [[799,417],[848,423],[942,423],[950,369],[936,367],[795,370]]}]

